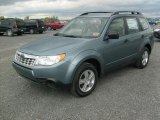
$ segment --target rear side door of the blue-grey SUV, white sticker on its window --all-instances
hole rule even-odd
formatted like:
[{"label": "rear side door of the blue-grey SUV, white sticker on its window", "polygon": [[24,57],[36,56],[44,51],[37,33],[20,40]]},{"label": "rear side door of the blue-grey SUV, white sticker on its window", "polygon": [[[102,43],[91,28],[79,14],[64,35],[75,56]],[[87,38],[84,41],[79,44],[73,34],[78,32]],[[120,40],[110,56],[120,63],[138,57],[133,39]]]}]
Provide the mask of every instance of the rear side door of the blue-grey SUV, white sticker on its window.
[{"label": "rear side door of the blue-grey SUV, white sticker on its window", "polygon": [[142,43],[143,35],[140,33],[139,23],[136,17],[126,17],[127,35],[126,42],[128,47],[128,55],[130,57],[136,57],[140,45]]}]

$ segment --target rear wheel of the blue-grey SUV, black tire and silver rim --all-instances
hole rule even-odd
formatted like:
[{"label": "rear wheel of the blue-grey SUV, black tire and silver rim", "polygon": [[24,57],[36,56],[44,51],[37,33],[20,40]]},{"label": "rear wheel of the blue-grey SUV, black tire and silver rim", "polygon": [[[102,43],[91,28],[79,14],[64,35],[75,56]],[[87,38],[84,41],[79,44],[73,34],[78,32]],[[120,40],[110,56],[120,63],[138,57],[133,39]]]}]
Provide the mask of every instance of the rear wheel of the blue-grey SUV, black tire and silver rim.
[{"label": "rear wheel of the blue-grey SUV, black tire and silver rim", "polygon": [[[146,55],[146,60],[144,60],[144,57],[145,56],[144,54],[148,54],[148,56]],[[147,47],[143,48],[143,50],[141,51],[136,63],[135,63],[135,66],[139,69],[143,69],[145,68],[147,65],[148,65],[148,62],[149,62],[149,55],[150,55],[150,51]],[[147,60],[148,59],[148,60]],[[143,62],[143,60],[145,62]],[[145,63],[145,64],[144,64]]]}]

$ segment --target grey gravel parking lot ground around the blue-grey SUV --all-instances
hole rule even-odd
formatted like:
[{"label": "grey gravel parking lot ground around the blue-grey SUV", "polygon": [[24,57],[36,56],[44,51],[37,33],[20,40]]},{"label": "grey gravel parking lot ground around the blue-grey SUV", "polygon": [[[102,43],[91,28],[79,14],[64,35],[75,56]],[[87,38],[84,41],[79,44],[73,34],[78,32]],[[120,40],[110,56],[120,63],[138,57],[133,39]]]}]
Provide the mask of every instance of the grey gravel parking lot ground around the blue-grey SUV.
[{"label": "grey gravel parking lot ground around the blue-grey SUV", "polygon": [[12,58],[20,46],[47,36],[0,36],[0,120],[160,120],[160,40],[145,69],[132,65],[107,73],[95,91],[73,96],[20,77]]}]

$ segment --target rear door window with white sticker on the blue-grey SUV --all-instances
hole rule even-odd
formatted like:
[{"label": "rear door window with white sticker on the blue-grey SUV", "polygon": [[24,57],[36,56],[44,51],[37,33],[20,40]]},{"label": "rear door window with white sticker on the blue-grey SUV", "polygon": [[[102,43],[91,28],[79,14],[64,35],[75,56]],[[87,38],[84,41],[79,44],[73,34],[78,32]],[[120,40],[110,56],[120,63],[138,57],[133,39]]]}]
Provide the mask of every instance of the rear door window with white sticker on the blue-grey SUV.
[{"label": "rear door window with white sticker on the blue-grey SUV", "polygon": [[126,18],[128,34],[139,32],[139,25],[136,18]]}]

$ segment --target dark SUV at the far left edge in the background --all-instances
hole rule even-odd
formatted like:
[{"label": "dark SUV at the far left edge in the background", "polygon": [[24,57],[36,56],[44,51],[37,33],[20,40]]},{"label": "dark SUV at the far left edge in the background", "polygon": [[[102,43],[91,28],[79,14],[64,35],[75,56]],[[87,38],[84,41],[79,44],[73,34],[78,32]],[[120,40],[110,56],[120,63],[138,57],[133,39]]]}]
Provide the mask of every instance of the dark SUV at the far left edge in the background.
[{"label": "dark SUV at the far left edge in the background", "polygon": [[22,35],[25,31],[25,23],[18,18],[4,18],[0,19],[0,35],[7,34],[13,36],[14,34]]}]

